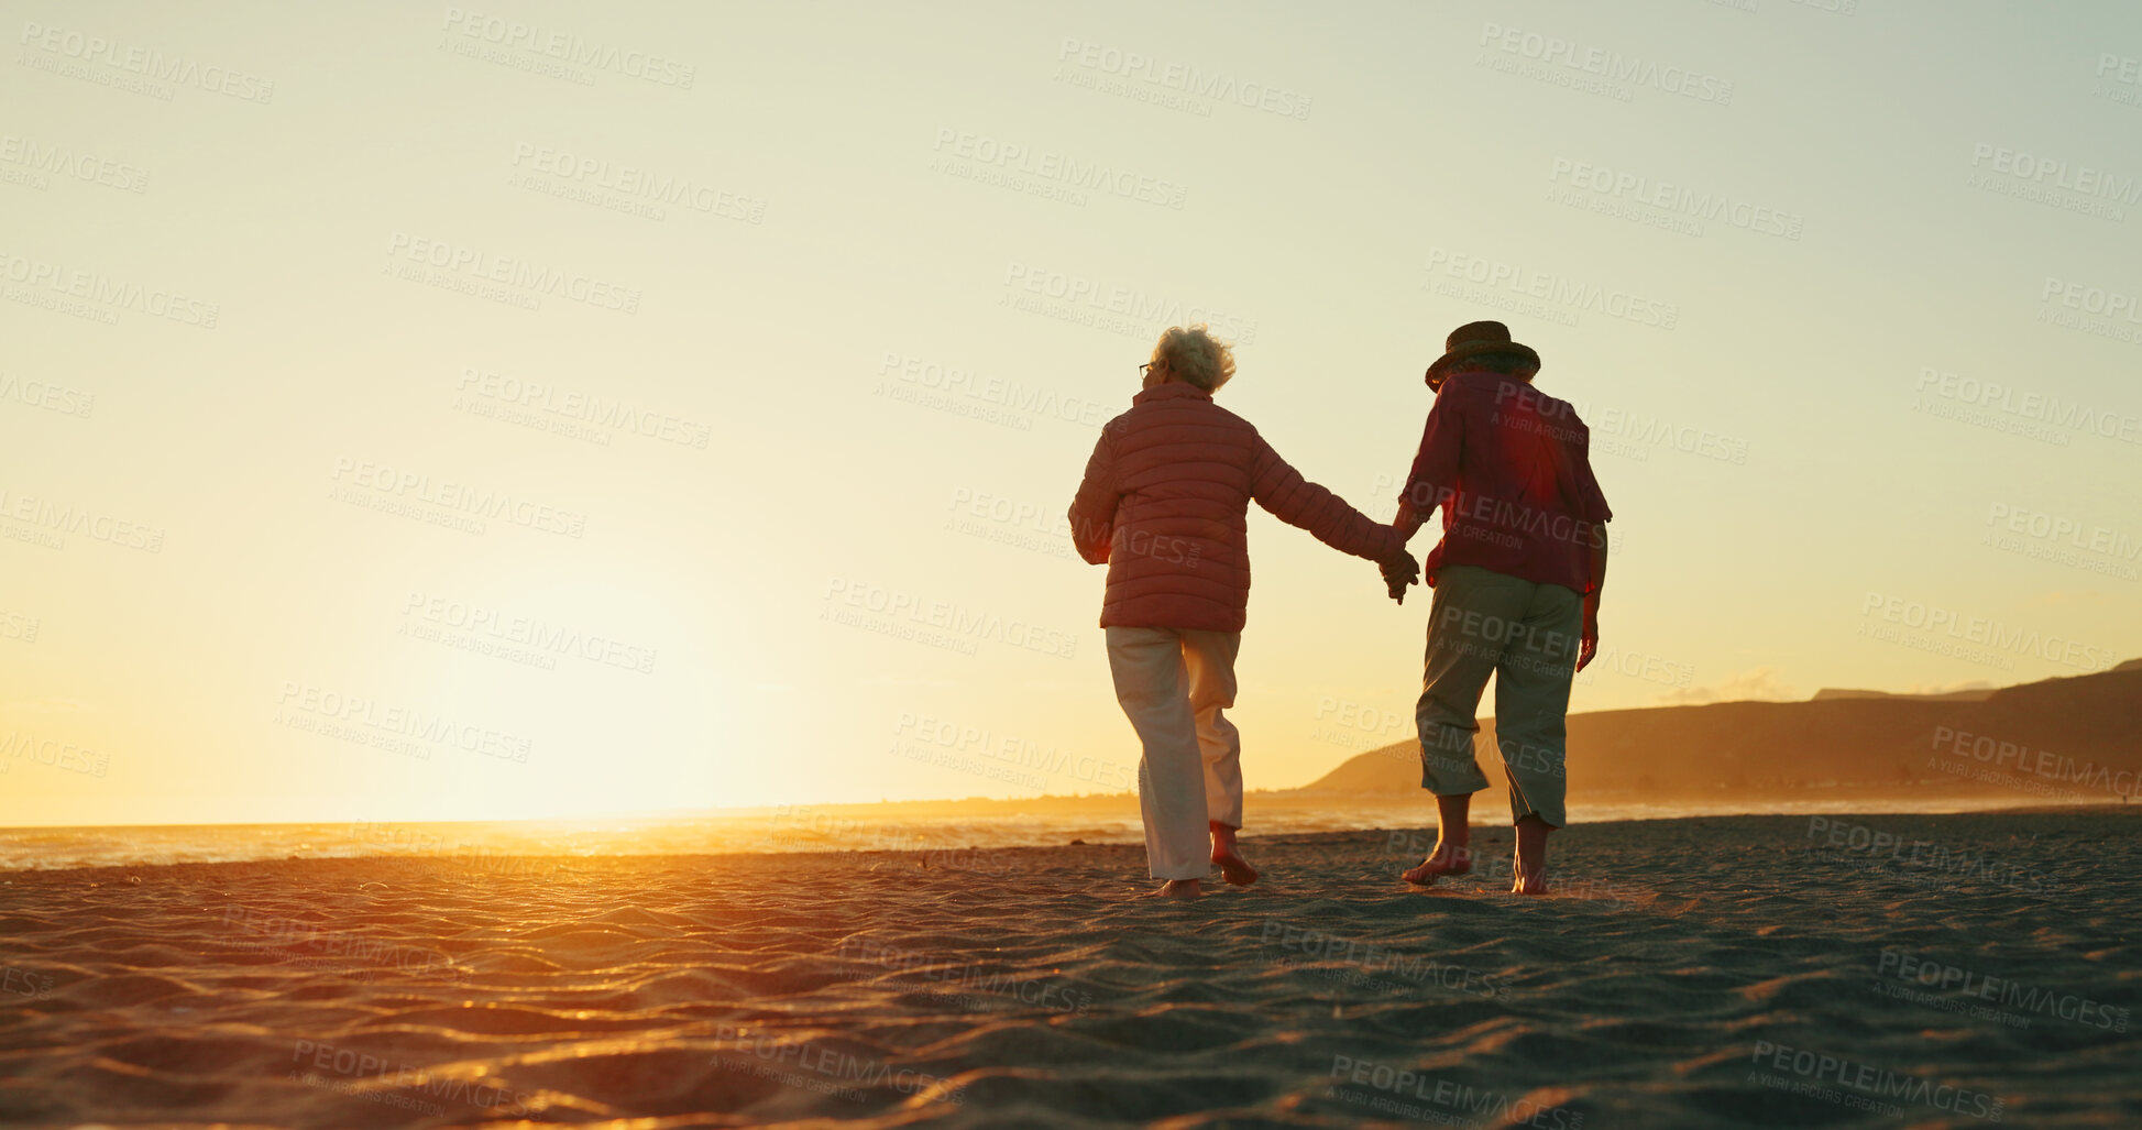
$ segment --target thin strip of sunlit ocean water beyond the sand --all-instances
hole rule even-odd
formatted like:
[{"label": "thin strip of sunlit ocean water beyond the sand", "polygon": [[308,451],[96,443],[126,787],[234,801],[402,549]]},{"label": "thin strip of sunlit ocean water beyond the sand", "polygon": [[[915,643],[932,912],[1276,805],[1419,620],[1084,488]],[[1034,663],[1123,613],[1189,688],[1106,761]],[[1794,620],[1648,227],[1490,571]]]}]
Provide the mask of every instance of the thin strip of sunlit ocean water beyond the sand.
[{"label": "thin strip of sunlit ocean water beyond the sand", "polygon": [[[1499,811],[1502,798],[1482,798],[1476,819]],[[1750,808],[1748,804],[1570,804],[1570,819],[1677,819],[1726,815],[1819,813],[1960,813],[2009,808],[2013,798],[1870,802],[1827,800]],[[1424,802],[1285,804],[1249,811],[1245,841],[1298,832],[1362,828],[1433,828]],[[585,821],[467,821],[467,823],[197,823],[105,828],[0,828],[0,871],[146,866],[236,860],[326,860],[362,856],[443,856],[476,864],[518,856],[677,856],[767,851],[966,851],[992,847],[1054,847],[1071,841],[1144,843],[1135,808],[1116,815],[1013,813],[987,817],[857,817],[823,808],[784,808],[752,815],[643,817]]]}]

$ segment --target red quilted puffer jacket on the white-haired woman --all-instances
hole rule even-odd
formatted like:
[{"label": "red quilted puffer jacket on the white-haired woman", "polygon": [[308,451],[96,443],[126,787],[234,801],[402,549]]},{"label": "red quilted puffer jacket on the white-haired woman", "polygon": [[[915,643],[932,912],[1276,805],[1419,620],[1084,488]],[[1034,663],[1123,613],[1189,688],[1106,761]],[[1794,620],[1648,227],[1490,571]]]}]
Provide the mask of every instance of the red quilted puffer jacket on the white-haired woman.
[{"label": "red quilted puffer jacket on the white-haired woman", "polygon": [[1210,392],[1163,384],[1101,429],[1071,502],[1080,557],[1107,562],[1101,626],[1242,630],[1249,500],[1356,557],[1405,549],[1392,527],[1304,480]]}]

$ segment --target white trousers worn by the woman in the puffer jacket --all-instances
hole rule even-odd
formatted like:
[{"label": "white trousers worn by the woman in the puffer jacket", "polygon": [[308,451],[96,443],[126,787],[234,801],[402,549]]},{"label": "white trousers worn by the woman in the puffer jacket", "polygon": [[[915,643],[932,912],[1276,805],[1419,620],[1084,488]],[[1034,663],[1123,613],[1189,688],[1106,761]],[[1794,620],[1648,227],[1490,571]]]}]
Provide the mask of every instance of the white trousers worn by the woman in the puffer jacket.
[{"label": "white trousers worn by the woman in the puffer jacket", "polygon": [[1107,628],[1116,701],[1144,748],[1137,808],[1155,879],[1204,879],[1206,823],[1242,826],[1242,735],[1221,714],[1234,705],[1240,648],[1242,633]]}]

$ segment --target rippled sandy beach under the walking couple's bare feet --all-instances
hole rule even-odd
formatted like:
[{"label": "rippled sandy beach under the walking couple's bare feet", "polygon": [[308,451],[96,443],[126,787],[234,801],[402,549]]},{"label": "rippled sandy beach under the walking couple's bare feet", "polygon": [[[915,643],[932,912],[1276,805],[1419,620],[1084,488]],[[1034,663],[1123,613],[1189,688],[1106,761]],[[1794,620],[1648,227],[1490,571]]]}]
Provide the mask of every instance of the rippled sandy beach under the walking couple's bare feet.
[{"label": "rippled sandy beach under the walking couple's bare feet", "polygon": [[[0,875],[9,1126],[2131,1126],[2131,815]],[[1508,851],[1508,830],[1480,830]]]}]

